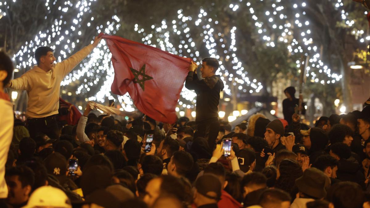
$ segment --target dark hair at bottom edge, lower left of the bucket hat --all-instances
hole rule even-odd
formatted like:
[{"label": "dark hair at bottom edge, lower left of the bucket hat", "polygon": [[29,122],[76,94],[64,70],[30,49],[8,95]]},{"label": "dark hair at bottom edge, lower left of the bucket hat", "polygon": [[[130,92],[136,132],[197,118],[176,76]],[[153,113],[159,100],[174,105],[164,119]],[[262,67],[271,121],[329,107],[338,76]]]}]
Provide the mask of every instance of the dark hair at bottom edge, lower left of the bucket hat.
[{"label": "dark hair at bottom edge, lower left of the bucket hat", "polygon": [[282,202],[290,202],[291,199],[292,198],[287,192],[278,188],[269,188],[262,192],[258,204],[262,207],[280,207]]}]

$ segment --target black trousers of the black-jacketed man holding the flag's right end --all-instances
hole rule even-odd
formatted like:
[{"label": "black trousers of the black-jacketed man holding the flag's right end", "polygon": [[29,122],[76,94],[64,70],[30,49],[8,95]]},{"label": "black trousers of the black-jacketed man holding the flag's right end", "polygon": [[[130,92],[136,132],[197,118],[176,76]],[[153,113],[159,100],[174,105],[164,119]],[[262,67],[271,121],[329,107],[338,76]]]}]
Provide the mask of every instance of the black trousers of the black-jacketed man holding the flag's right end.
[{"label": "black trousers of the black-jacketed man holding the flag's right end", "polygon": [[216,145],[216,139],[218,132],[220,131],[220,123],[218,120],[211,123],[200,123],[196,124],[196,131],[194,133],[194,138],[203,137],[208,141],[209,148],[211,149],[211,154],[213,152],[213,147]]}]

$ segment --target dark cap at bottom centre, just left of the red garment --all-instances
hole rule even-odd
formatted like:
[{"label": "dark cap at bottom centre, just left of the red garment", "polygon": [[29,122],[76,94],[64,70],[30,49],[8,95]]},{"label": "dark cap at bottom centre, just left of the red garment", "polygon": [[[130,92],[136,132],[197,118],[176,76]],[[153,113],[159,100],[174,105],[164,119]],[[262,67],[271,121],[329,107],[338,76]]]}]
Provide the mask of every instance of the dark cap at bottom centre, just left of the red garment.
[{"label": "dark cap at bottom centre, just left of the red garment", "polygon": [[[220,200],[221,199],[221,182],[219,179],[213,174],[204,174],[200,176],[196,181],[194,187],[199,194],[203,196]],[[210,196],[207,193],[214,192],[216,196]]]}]

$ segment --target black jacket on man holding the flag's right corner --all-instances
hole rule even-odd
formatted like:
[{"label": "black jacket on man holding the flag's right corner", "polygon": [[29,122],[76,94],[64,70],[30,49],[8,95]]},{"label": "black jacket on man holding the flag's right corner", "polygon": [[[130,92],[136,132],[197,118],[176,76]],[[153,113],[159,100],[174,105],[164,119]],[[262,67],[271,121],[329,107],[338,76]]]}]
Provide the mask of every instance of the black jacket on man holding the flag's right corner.
[{"label": "black jacket on man holding the flag's right corner", "polygon": [[218,121],[220,92],[224,87],[221,77],[215,75],[199,80],[196,73],[189,71],[185,87],[188,90],[195,90],[196,93],[196,123]]}]

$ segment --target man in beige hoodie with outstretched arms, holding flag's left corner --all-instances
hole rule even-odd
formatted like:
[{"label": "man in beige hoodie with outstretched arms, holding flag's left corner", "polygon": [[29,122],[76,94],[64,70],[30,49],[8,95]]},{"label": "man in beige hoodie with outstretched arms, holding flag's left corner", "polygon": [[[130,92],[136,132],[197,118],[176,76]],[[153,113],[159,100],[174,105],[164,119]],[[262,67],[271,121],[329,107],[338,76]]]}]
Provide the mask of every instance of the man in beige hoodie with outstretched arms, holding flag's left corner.
[{"label": "man in beige hoodie with outstretched arms, holding flag's left corner", "polygon": [[56,64],[53,49],[47,46],[38,47],[35,51],[37,65],[7,85],[14,90],[27,91],[27,128],[32,138],[44,133],[51,139],[59,140],[56,115],[59,109],[60,83],[90,54],[100,40],[101,38],[95,37],[92,44]]}]

